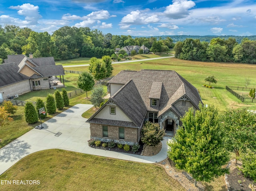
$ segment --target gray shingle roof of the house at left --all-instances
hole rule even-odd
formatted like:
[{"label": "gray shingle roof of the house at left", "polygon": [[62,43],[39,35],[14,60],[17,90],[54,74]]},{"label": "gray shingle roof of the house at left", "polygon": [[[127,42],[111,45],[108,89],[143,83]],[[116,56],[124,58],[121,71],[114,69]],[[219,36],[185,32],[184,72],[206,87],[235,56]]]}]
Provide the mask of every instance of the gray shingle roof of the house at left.
[{"label": "gray shingle roof of the house at left", "polygon": [[[18,65],[25,57],[25,55],[8,55],[7,59],[4,60],[4,64],[0,64],[0,87],[24,81],[26,79],[35,79],[41,77],[38,75],[27,77],[26,75],[18,73],[20,69]],[[44,77],[64,75],[62,65],[55,65],[53,57],[32,59],[26,57],[26,59],[35,64],[36,67],[33,67],[33,69],[38,71]]]}]

